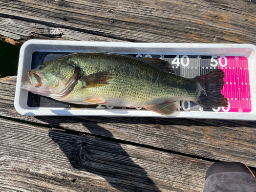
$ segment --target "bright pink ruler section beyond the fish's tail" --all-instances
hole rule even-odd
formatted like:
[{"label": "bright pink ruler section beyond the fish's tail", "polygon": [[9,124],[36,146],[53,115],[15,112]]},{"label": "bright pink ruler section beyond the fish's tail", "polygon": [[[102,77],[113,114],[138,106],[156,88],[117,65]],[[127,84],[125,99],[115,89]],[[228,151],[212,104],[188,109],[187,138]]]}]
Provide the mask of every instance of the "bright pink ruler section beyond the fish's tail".
[{"label": "bright pink ruler section beyond the fish's tail", "polygon": [[248,59],[242,56],[219,56],[219,69],[225,72],[221,93],[228,99],[228,108],[222,112],[248,113],[251,111]]}]

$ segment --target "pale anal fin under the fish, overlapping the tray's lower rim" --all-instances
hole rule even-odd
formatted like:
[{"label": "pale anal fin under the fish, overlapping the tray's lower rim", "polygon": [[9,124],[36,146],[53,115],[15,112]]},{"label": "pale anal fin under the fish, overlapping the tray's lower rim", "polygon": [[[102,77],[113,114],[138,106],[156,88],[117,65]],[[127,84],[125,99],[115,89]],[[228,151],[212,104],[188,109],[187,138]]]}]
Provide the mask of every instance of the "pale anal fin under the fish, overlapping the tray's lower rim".
[{"label": "pale anal fin under the fish, overlapping the tray's lower rim", "polygon": [[156,113],[160,113],[162,115],[170,115],[177,110],[178,103],[169,101],[169,102],[156,104],[156,105],[146,105],[146,106],[143,106],[143,108],[150,111],[154,111]]}]

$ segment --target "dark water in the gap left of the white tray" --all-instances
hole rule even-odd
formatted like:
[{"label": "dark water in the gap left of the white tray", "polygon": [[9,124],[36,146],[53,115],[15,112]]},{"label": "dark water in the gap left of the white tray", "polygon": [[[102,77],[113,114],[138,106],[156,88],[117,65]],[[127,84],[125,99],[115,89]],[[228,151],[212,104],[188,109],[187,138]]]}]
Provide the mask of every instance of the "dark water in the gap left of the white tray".
[{"label": "dark water in the gap left of the white tray", "polygon": [[17,75],[20,47],[0,40],[1,77]]}]

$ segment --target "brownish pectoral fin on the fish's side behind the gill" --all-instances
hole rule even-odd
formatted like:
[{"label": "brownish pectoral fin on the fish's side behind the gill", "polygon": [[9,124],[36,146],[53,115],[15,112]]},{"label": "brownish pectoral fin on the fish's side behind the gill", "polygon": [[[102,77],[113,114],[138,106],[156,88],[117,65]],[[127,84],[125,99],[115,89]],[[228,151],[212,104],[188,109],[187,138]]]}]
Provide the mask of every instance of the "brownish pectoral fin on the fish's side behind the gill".
[{"label": "brownish pectoral fin on the fish's side behind the gill", "polygon": [[109,72],[98,72],[87,76],[82,76],[81,81],[83,82],[84,88],[98,88],[109,84],[109,79],[112,78],[112,74]]}]

